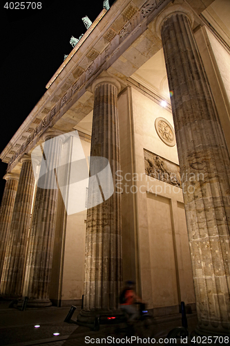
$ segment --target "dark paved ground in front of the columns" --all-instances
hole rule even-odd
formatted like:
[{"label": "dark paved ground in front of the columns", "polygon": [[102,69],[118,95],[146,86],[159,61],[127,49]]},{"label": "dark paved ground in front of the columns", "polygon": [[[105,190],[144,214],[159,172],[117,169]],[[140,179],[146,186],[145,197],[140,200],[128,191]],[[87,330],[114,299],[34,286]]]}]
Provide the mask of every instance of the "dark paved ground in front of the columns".
[{"label": "dark paved ground in front of the columns", "polygon": [[[70,307],[48,307],[19,311],[8,308],[6,302],[0,302],[0,345],[86,346],[93,343],[116,345],[120,339],[123,345],[140,345],[145,341],[148,344],[151,338],[155,338],[156,343],[160,343],[160,338],[166,338],[173,327],[181,326],[181,316],[177,315],[172,316],[171,321],[166,321],[165,318],[154,318],[148,321],[148,326],[144,325],[144,322],[137,322],[133,333],[131,330],[124,329],[125,326],[122,324],[119,327],[101,326],[99,331],[92,331],[75,324],[79,310],[75,311],[72,323],[64,322],[69,309]],[[187,318],[191,332],[195,329],[197,319],[195,315],[187,315]],[[40,327],[35,328],[35,325]],[[59,336],[53,335],[56,332]],[[137,337],[140,339],[137,340]]]}]

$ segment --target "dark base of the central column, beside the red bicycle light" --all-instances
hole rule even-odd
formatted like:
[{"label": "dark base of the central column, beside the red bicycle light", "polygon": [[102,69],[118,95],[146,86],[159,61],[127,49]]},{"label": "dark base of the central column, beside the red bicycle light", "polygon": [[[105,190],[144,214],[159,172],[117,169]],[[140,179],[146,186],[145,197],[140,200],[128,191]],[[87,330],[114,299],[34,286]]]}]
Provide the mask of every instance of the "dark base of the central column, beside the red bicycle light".
[{"label": "dark base of the central column, beside the red bicycle light", "polygon": [[[108,311],[98,309],[96,311],[80,311],[77,315],[77,324],[91,329],[98,330],[98,325],[114,325],[124,320],[121,311]],[[98,327],[98,329],[97,329]]]}]

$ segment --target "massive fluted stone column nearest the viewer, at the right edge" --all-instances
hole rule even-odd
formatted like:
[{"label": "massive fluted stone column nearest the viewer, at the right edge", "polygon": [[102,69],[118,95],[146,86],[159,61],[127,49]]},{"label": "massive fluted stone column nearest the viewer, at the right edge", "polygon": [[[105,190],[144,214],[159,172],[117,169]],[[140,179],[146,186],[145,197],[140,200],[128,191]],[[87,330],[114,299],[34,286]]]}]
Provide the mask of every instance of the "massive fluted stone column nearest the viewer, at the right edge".
[{"label": "massive fluted stone column nearest the viewer, at the right edge", "polygon": [[198,334],[230,331],[230,161],[189,17],[161,27],[182,175]]}]

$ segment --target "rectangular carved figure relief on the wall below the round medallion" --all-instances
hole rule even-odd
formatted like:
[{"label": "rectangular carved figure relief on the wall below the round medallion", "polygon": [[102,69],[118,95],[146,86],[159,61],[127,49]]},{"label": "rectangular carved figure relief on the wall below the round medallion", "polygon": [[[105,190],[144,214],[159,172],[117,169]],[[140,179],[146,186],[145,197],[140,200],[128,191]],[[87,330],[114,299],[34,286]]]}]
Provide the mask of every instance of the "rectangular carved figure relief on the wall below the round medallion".
[{"label": "rectangular carved figure relief on the wall below the round medallion", "polygon": [[180,167],[175,163],[144,149],[145,174],[165,183],[182,188]]}]

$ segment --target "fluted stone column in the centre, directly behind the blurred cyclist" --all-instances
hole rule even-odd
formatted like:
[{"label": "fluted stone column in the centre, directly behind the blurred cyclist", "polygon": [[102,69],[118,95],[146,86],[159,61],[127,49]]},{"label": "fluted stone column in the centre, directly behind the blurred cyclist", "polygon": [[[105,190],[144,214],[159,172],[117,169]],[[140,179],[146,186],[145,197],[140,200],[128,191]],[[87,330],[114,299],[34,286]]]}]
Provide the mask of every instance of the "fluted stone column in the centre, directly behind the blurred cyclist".
[{"label": "fluted stone column in the centre, directly behind the blurred cyclist", "polygon": [[[84,307],[77,319],[93,322],[99,314],[117,313],[117,298],[122,285],[120,194],[116,193],[115,172],[119,170],[119,129],[117,118],[117,93],[120,86],[111,77],[98,78],[93,83],[95,93],[91,157],[108,159],[113,179],[90,181],[86,222],[86,275],[84,282]],[[90,176],[99,170],[97,162],[90,161]],[[106,194],[114,185],[114,193],[95,206],[97,183]]]}]

